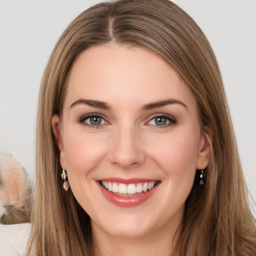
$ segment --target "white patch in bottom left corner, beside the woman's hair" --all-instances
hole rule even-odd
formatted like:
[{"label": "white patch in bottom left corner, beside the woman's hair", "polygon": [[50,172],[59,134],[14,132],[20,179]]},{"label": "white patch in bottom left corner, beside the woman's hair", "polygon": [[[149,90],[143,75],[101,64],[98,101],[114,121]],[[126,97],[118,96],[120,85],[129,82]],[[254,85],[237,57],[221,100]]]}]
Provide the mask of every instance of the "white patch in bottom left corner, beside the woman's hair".
[{"label": "white patch in bottom left corner, beside the woman's hair", "polygon": [[31,224],[0,224],[0,255],[23,256],[25,255]]}]

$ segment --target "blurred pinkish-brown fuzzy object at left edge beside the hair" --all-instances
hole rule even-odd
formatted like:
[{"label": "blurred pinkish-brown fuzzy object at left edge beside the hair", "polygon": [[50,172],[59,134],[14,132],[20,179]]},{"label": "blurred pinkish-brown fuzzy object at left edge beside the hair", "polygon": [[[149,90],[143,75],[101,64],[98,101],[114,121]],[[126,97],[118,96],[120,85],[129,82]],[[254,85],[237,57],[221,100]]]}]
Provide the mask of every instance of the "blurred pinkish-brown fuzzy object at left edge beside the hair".
[{"label": "blurred pinkish-brown fuzzy object at left edge beside the hair", "polygon": [[25,169],[11,154],[0,154],[0,223],[30,221],[31,188]]}]

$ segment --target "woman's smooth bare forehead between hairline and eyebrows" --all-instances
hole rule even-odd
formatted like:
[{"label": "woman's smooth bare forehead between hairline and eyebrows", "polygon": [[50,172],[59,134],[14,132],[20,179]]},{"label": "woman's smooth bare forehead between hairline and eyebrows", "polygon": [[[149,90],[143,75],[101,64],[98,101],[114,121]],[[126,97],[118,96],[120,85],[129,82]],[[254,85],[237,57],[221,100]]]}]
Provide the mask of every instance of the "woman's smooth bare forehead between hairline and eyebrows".
[{"label": "woman's smooth bare forehead between hairline and eyebrows", "polygon": [[148,103],[165,98],[195,100],[177,72],[149,50],[127,45],[92,46],[75,59],[66,101],[77,98]]}]

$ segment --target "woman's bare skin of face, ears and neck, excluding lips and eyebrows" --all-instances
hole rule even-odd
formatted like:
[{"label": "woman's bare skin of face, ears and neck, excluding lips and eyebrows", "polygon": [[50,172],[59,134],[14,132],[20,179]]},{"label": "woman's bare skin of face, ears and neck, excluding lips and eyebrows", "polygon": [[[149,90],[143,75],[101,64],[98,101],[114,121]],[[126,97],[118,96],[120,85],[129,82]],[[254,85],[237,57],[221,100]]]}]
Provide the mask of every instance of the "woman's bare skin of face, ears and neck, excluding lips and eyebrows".
[{"label": "woman's bare skin of face, ears and neck, excluding lips and eyebrows", "polygon": [[[81,98],[110,109],[73,103]],[[181,103],[143,109],[170,98]],[[98,126],[88,125],[91,113],[103,118]],[[156,125],[162,115],[169,120]],[[139,47],[90,47],[72,66],[63,115],[52,117],[52,127],[70,188],[91,218],[95,255],[171,255],[195,170],[210,156],[208,129],[175,70]],[[160,184],[143,203],[120,207],[99,189],[96,180],[107,177]]]}]

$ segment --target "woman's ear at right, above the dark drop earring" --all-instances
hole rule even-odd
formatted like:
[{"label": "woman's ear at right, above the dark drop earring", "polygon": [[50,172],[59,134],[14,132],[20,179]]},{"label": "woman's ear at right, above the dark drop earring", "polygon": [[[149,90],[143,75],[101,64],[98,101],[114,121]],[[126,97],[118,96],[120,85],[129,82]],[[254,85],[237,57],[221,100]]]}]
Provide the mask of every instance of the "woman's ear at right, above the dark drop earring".
[{"label": "woman's ear at right, above the dark drop earring", "polygon": [[207,125],[203,126],[203,131],[199,141],[198,155],[196,158],[196,169],[207,167],[211,154],[211,136]]}]

